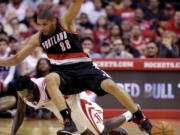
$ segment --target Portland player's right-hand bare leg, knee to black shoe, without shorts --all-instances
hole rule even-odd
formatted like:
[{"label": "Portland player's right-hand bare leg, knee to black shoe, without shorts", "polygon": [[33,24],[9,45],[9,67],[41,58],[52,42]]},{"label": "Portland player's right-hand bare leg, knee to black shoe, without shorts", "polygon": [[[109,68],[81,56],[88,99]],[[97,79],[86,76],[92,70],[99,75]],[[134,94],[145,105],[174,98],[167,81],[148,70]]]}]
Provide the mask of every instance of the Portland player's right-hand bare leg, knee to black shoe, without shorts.
[{"label": "Portland player's right-hand bare leg, knee to black shoe, without shorts", "polygon": [[101,82],[101,88],[105,90],[106,92],[114,95],[118,101],[125,106],[128,110],[133,113],[134,117],[137,119],[138,124],[141,124],[143,129],[146,130],[146,132],[150,133],[152,125],[149,122],[148,119],[146,119],[141,112],[140,109],[138,109],[137,105],[133,102],[131,97],[126,93],[125,90],[123,90],[121,87],[119,87],[114,81],[111,79],[105,79]]}]

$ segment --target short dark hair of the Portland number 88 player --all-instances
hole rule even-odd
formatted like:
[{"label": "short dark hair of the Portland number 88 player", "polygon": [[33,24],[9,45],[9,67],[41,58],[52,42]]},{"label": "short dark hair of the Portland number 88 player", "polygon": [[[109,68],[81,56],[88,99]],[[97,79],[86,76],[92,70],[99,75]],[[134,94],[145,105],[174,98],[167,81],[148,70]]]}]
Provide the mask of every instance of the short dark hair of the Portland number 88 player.
[{"label": "short dark hair of the Portland number 88 player", "polygon": [[39,11],[37,14],[37,19],[47,19],[47,20],[52,20],[54,19],[54,14],[51,9],[45,8]]}]

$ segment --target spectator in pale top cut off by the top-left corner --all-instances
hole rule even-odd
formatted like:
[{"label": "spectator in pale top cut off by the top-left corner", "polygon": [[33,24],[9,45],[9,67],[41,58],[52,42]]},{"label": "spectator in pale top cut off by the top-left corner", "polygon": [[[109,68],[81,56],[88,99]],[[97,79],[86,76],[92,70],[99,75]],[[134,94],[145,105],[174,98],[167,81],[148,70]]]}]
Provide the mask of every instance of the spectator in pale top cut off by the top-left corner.
[{"label": "spectator in pale top cut off by the top-left corner", "polygon": [[7,9],[7,0],[1,0],[0,1],[0,23],[3,25],[6,23],[7,15],[9,13],[9,10]]}]

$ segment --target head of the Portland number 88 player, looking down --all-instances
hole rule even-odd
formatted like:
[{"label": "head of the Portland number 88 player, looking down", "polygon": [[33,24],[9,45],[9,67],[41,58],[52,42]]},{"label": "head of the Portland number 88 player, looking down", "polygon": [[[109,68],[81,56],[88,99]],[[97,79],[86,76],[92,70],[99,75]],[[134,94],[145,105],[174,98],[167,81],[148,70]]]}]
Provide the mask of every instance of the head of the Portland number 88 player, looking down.
[{"label": "head of the Portland number 88 player, looking down", "polygon": [[37,15],[37,24],[45,35],[50,34],[56,26],[56,18],[50,9],[42,9]]}]

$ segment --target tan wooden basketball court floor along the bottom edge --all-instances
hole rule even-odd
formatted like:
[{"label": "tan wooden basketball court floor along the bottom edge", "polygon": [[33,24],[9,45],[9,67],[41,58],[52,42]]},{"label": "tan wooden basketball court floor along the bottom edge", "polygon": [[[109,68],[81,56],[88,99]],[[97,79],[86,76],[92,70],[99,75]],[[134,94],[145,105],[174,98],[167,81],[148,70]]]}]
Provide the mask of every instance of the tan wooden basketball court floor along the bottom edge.
[{"label": "tan wooden basketball court floor along the bottom edge", "polygon": [[[175,130],[174,135],[180,135],[180,119],[163,119],[169,122]],[[151,119],[155,124],[162,119]],[[12,119],[0,119],[0,135],[10,135]],[[62,127],[56,119],[52,120],[25,120],[23,126],[17,135],[56,135],[56,131]],[[126,123],[123,125],[129,132],[129,135],[144,135],[139,131],[137,126],[133,123]]]}]

